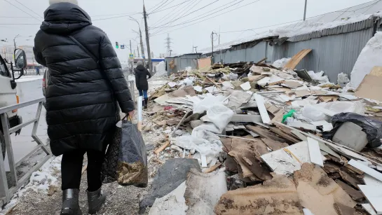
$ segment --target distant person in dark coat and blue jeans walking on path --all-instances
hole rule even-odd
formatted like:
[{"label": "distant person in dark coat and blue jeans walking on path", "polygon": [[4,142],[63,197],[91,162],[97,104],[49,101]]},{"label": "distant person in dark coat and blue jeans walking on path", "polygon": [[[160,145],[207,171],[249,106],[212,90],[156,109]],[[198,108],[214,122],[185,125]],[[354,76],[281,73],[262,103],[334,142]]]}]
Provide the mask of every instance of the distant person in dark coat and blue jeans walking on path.
[{"label": "distant person in dark coat and blue jeans walking on path", "polygon": [[144,97],[143,106],[144,106],[144,109],[147,109],[147,102],[149,102],[149,99],[147,97],[147,90],[149,90],[149,83],[147,82],[147,76],[151,78],[151,74],[149,70],[144,68],[142,61],[137,62],[137,67],[134,69],[134,74],[135,74],[135,85],[137,86],[139,96]]}]

